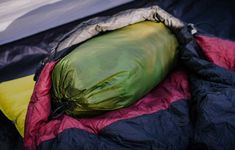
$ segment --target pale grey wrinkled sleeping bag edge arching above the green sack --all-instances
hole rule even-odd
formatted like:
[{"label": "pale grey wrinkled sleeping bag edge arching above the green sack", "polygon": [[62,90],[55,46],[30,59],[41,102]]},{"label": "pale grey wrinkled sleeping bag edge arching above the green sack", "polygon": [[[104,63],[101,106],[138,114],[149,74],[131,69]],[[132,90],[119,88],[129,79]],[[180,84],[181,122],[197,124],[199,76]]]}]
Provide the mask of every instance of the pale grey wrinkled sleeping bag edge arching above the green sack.
[{"label": "pale grey wrinkled sleeping bag edge arching above the green sack", "polygon": [[56,51],[61,51],[90,39],[99,33],[120,29],[141,21],[160,21],[165,26],[170,27],[171,30],[177,30],[184,26],[182,21],[171,16],[171,14],[157,5],[130,9],[115,14],[112,17],[97,17],[77,25],[62,38],[63,42],[59,43],[55,49]]}]

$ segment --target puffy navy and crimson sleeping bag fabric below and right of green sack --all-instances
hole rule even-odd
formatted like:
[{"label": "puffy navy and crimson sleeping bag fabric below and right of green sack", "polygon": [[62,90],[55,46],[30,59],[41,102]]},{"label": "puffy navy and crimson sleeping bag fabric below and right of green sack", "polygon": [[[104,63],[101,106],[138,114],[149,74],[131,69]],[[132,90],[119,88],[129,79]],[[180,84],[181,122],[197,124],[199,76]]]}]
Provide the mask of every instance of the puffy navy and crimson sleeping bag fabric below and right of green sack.
[{"label": "puffy navy and crimson sleeping bag fabric below and right of green sack", "polygon": [[[163,18],[165,20],[161,21],[168,22],[167,19],[172,16],[166,15]],[[29,105],[25,147],[27,149],[76,149],[77,147],[233,149],[235,75],[228,68],[233,66],[231,64],[235,56],[228,57],[228,64],[224,64],[227,61],[221,61],[232,53],[233,43],[221,39],[216,39],[220,42],[215,42],[216,40],[200,35],[194,37],[190,26],[174,28],[173,25],[169,28],[173,29],[180,42],[178,65],[183,66],[187,76],[180,80],[179,76],[171,73],[163,81],[163,85],[157,86],[156,91],[148,93],[134,105],[101,116],[75,119],[62,115],[50,118],[51,108],[44,110],[41,108],[43,111],[40,115],[35,113],[42,106],[51,106],[50,73],[55,62],[46,64]],[[221,59],[216,60],[214,53],[212,55],[208,53],[214,48],[212,45],[202,44],[205,41],[208,45],[213,44],[218,48],[216,50],[218,53],[225,48],[219,46],[227,43],[226,50],[219,53]],[[70,50],[65,49],[65,51]],[[175,69],[177,72],[178,68]],[[149,99],[150,97],[153,99]],[[174,111],[171,111],[171,108],[175,108]],[[168,114],[169,111],[172,115],[161,115]]]}]

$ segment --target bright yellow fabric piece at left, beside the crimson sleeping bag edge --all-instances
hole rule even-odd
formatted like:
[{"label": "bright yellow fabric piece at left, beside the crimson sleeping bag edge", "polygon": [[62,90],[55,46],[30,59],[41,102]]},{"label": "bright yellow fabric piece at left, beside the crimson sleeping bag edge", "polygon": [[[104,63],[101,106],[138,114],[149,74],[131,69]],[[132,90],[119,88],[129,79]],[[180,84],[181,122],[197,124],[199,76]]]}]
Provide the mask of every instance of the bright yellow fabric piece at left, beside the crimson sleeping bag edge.
[{"label": "bright yellow fabric piece at left, beside the crimson sleeping bag edge", "polygon": [[33,75],[0,83],[0,110],[9,120],[15,122],[22,137],[34,84]]}]

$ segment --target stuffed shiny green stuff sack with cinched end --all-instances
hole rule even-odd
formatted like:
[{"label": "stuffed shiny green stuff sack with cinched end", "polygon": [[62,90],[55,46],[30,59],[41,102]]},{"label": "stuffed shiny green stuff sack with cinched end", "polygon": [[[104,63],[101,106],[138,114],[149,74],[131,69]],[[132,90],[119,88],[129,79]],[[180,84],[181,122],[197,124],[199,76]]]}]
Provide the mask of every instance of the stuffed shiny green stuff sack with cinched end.
[{"label": "stuffed shiny green stuff sack with cinched end", "polygon": [[53,101],[69,104],[71,116],[129,106],[164,79],[177,46],[168,28],[150,21],[94,37],[55,66]]}]

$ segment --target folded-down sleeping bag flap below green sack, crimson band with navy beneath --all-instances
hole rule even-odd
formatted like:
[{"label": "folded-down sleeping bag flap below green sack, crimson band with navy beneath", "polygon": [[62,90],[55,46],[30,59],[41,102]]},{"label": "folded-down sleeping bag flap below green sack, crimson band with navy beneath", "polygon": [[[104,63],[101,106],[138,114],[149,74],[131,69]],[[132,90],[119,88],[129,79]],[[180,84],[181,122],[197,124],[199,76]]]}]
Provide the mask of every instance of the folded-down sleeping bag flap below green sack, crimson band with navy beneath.
[{"label": "folded-down sleeping bag flap below green sack, crimson band with navy beneath", "polygon": [[[101,142],[101,144],[98,144],[100,145],[99,147],[101,149],[103,146],[108,146],[108,143],[111,143],[113,148],[120,147],[125,149],[126,146],[128,147],[131,144],[128,142],[129,138],[134,138],[132,140],[132,148],[140,142],[140,139],[142,140],[141,143],[143,143],[142,148],[147,146],[149,148],[153,147],[154,149],[164,149],[167,147],[169,147],[169,149],[172,147],[180,149],[186,148],[190,144],[192,131],[187,100],[190,99],[191,95],[189,92],[188,77],[184,70],[177,69],[173,71],[163,83],[161,83],[143,99],[130,107],[111,111],[92,118],[76,119],[67,115],[63,115],[59,118],[50,120],[50,109],[44,108],[50,108],[51,105],[50,89],[52,81],[50,76],[55,64],[56,62],[51,62],[45,66],[35,87],[35,91],[33,93],[28,110],[28,114],[31,115],[27,115],[26,119],[26,132],[24,140],[26,149],[36,149],[37,146],[44,145],[43,143],[46,141],[49,143],[48,145],[45,144],[45,147],[43,146],[45,149],[76,149],[77,147],[82,148],[83,146],[94,149],[97,145],[91,143],[97,144],[99,142]],[[180,102],[181,100],[183,101],[182,103]],[[164,111],[168,111],[168,108],[170,109],[170,114]],[[39,112],[39,110],[41,111]],[[161,110],[163,110],[162,115]],[[150,117],[146,117],[147,120],[142,119],[142,117],[145,115]],[[167,116],[166,118],[165,115]],[[117,127],[121,126],[122,123],[120,125],[115,125],[116,123],[119,123],[123,120],[124,122],[127,122],[127,126],[129,125],[129,128],[131,128],[132,125],[136,124],[135,121],[129,124],[128,120],[132,118],[139,118],[137,120],[140,120],[140,125],[138,128],[141,130],[138,132],[139,136],[133,136],[135,135],[135,132],[132,134],[127,133],[128,130],[123,127],[121,127],[117,132]],[[169,118],[169,120],[167,118]],[[148,123],[150,120],[152,120],[153,123]],[[163,122],[166,121],[168,125],[161,123],[161,121],[158,120],[162,120]],[[102,142],[102,139],[100,139],[102,138],[100,136],[102,135],[103,130],[109,128],[109,126],[112,124],[114,125],[114,128],[111,128],[109,132],[111,135],[113,135],[113,138],[115,138],[114,134],[123,132],[124,139],[121,143],[127,142],[123,146],[121,143],[113,142],[108,138],[108,135],[104,135],[104,138],[107,138],[107,141],[105,140],[105,142]],[[146,126],[146,130],[142,129],[144,127],[143,125]],[[135,128],[135,126],[133,128]],[[136,130],[138,130],[138,128]],[[163,131],[162,128],[164,128]],[[77,131],[79,132],[73,132],[74,130],[71,129],[78,129]],[[176,138],[165,141],[159,137],[159,139],[153,140],[151,136],[149,138],[146,136],[148,132],[151,132],[149,129],[155,130],[154,132],[156,132],[156,135],[154,136],[161,136],[158,135],[157,132],[162,131],[162,133],[166,132],[166,134],[169,135],[174,134]],[[64,133],[68,133],[68,136],[66,135],[65,138],[70,141],[69,143],[67,141],[60,140],[59,135],[63,136]],[[82,136],[82,139],[85,143],[83,143],[79,134],[87,134],[88,137],[91,137],[91,139],[86,138],[84,135]],[[125,138],[125,135],[128,136]],[[57,139],[57,137],[59,139]],[[168,136],[165,136],[164,134],[162,137],[168,138]],[[98,138],[98,140],[94,140],[95,138]],[[180,141],[180,145],[173,144],[178,143],[179,139],[182,139]],[[60,142],[58,143],[58,140],[61,141],[61,144],[59,144]],[[87,142],[89,140],[91,140],[91,142]],[[64,142],[67,144],[64,144]],[[157,143],[159,142],[163,144],[158,145]]]}]

